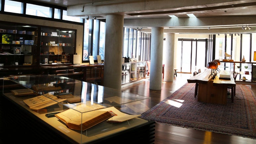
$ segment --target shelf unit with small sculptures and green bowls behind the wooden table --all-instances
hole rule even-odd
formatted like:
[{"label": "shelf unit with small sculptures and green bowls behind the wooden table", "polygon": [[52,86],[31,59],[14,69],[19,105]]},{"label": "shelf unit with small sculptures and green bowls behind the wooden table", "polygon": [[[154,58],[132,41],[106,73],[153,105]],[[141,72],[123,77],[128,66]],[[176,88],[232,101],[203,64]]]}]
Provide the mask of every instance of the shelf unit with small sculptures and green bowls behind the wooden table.
[{"label": "shelf unit with small sculptures and green bowls behind the wooden table", "polygon": [[256,82],[255,62],[221,61],[220,69],[239,72],[236,81]]}]

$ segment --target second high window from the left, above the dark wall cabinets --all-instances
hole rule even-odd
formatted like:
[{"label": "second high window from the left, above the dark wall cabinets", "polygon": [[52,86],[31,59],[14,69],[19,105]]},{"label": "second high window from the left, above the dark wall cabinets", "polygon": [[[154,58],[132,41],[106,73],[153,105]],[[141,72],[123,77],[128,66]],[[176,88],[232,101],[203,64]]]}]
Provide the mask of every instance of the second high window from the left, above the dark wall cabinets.
[{"label": "second high window from the left, above the dark wall cabinets", "polygon": [[27,4],[26,14],[41,16],[41,17],[52,17],[51,8],[38,6],[33,4]]}]

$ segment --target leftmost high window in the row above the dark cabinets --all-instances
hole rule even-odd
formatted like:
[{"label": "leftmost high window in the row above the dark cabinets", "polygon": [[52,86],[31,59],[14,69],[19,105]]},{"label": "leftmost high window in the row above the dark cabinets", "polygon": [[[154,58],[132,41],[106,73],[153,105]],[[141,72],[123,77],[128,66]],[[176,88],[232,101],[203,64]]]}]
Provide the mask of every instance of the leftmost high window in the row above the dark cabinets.
[{"label": "leftmost high window in the row above the dark cabinets", "polygon": [[21,14],[21,2],[5,0],[4,11]]}]

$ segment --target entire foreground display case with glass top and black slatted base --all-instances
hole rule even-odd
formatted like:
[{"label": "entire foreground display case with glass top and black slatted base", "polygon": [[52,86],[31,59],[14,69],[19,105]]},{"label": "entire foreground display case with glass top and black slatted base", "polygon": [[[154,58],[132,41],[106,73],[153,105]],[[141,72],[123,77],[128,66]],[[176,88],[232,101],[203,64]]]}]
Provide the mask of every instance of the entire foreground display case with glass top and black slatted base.
[{"label": "entire foreground display case with glass top and black slatted base", "polygon": [[[58,75],[27,75],[5,78],[20,86],[15,85],[9,89],[3,89],[1,97],[10,101],[12,104],[8,107],[10,109],[13,107],[16,111],[9,113],[7,111],[10,109],[7,108],[5,112],[1,113],[7,114],[9,117],[17,117],[24,111],[25,115],[22,117],[27,119],[25,120],[26,125],[23,123],[21,125],[20,119],[11,119],[7,122],[11,126],[4,130],[13,130],[12,127],[22,130],[21,128],[25,127],[26,131],[29,132],[30,129],[31,131],[29,134],[23,135],[30,138],[38,134],[40,138],[41,136],[48,137],[45,140],[66,141],[65,143],[119,143],[123,140],[127,143],[153,142],[154,122],[140,118],[142,113],[150,109],[149,97]],[[9,82],[6,84],[9,85]],[[15,91],[21,90],[22,93],[32,90],[33,94],[16,95]],[[29,101],[38,96],[46,99],[48,97],[49,101],[55,103],[41,109],[32,108]],[[57,102],[59,101],[57,99],[62,100]],[[102,116],[102,119],[91,120],[91,113],[93,116]],[[87,117],[87,115],[90,116]],[[4,115],[5,119],[8,119],[8,116]],[[77,117],[77,120],[73,119],[73,122],[67,122],[69,118],[66,119],[66,117],[71,116]],[[90,120],[93,125],[87,124],[87,121]],[[70,123],[71,125],[69,125]],[[81,124],[83,124],[82,127]],[[54,132],[49,133],[49,131]]]}]

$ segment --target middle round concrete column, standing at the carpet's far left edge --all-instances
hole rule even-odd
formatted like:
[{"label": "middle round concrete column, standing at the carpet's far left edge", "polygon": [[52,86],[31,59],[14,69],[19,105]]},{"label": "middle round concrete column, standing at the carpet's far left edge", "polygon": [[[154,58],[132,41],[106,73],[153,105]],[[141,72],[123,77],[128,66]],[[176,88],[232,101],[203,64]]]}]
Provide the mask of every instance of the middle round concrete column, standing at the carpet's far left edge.
[{"label": "middle round concrete column, standing at the carpet's far left edge", "polygon": [[161,90],[163,64],[163,28],[151,29],[150,79],[149,89]]}]

